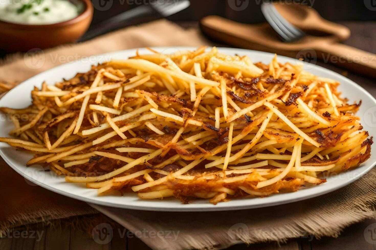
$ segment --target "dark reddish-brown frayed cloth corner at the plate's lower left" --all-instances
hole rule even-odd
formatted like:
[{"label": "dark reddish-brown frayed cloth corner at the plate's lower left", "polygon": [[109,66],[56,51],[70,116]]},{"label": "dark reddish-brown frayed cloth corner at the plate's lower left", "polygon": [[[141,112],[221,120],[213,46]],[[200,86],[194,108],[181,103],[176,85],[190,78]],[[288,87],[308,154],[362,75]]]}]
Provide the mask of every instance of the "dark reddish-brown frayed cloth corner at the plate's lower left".
[{"label": "dark reddish-brown frayed cloth corner at the plate's lower left", "polygon": [[85,202],[53,193],[24,179],[0,158],[0,238],[11,228],[96,214]]}]

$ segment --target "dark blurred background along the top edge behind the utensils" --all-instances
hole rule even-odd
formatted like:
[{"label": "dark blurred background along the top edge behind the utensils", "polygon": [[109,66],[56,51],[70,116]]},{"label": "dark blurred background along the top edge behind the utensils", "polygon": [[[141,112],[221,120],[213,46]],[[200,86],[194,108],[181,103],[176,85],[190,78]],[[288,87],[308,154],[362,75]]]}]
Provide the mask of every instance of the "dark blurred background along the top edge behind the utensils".
[{"label": "dark blurred background along the top edge behind the utensils", "polygon": [[[92,0],[105,1],[105,0]],[[147,3],[148,0],[106,0],[113,1],[112,7],[106,11],[94,9],[92,24],[110,18],[124,10]],[[173,0],[171,0],[173,1]],[[249,1],[245,10],[235,11],[231,9],[228,1],[241,0],[190,0],[191,6],[187,9],[168,17],[172,21],[198,21],[207,15],[220,15],[235,21],[245,23],[257,23],[265,21],[260,10],[262,0]],[[321,16],[328,20],[376,20],[376,0],[287,0],[286,3],[307,4],[317,10]],[[313,4],[311,4],[313,2]],[[370,6],[368,9],[367,6]],[[372,10],[371,10],[372,9]]]}]

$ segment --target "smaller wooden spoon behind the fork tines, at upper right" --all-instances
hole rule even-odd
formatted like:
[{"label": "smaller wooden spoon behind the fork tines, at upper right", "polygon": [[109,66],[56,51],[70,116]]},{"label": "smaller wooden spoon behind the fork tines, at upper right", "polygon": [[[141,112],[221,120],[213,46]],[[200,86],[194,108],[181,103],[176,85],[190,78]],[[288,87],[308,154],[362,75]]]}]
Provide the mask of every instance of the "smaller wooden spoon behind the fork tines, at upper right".
[{"label": "smaller wooden spoon behind the fork tines, at upper right", "polygon": [[344,41],[350,37],[349,28],[335,22],[327,21],[311,7],[302,4],[281,3],[276,3],[274,6],[287,21],[309,34],[331,34],[336,36],[338,41]]}]

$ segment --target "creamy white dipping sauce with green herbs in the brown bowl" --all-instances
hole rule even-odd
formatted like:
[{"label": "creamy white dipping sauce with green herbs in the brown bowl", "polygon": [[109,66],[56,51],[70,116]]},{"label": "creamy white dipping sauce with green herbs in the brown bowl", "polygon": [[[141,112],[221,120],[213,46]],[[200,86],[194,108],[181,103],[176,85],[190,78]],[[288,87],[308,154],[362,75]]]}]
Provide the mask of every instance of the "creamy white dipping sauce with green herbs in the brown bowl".
[{"label": "creamy white dipping sauce with green herbs in the brown bowl", "polygon": [[79,9],[68,0],[0,0],[0,20],[6,22],[54,24],[78,15]]}]

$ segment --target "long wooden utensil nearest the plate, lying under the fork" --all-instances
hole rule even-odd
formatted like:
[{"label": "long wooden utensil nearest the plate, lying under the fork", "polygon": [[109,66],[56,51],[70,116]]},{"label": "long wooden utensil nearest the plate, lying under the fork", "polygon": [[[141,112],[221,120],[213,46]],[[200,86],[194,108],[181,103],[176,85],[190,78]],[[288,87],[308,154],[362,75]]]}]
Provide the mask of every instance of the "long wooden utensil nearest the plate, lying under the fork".
[{"label": "long wooden utensil nearest the plate, lying under the fork", "polygon": [[315,59],[339,64],[376,78],[376,55],[337,41],[337,36],[307,35],[291,43],[282,42],[268,23],[242,24],[220,16],[207,16],[200,21],[202,31],[209,37],[241,48],[277,53],[293,58]]}]

